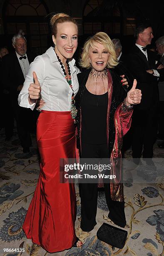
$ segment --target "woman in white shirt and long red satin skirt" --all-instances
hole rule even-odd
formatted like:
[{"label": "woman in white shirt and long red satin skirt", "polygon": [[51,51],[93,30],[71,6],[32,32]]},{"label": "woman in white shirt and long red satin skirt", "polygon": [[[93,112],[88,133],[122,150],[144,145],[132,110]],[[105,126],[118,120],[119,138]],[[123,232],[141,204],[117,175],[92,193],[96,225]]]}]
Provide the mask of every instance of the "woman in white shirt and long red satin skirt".
[{"label": "woman in white shirt and long red satin skirt", "polygon": [[75,234],[74,184],[60,183],[60,159],[75,158],[73,100],[80,71],[72,56],[77,49],[77,23],[60,13],[52,17],[51,25],[55,49],[50,47],[32,62],[18,100],[32,110],[37,99],[45,102],[37,120],[40,176],[22,228],[33,243],[53,253],[82,242]]}]

